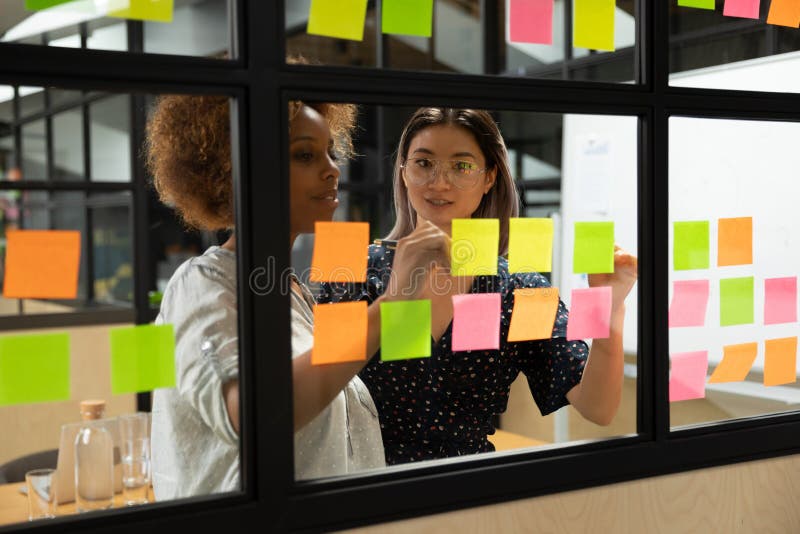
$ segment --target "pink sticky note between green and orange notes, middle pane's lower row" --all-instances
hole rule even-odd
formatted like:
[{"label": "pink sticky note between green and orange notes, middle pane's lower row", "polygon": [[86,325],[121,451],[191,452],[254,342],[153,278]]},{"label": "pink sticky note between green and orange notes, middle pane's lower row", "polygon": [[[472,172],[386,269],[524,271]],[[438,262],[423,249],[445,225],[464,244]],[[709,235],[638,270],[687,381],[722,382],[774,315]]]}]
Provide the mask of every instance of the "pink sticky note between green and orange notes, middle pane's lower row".
[{"label": "pink sticky note between green and orange notes, middle pane's lower row", "polygon": [[453,351],[500,348],[500,294],[453,296]]}]

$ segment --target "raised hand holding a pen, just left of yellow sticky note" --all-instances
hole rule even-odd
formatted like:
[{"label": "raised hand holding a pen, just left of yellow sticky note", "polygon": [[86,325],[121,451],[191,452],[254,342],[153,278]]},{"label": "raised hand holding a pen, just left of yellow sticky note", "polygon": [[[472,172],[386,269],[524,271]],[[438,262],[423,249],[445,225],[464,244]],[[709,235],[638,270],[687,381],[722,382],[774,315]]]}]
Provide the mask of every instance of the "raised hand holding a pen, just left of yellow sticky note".
[{"label": "raised hand holding a pen, just left of yellow sticky note", "polygon": [[430,290],[431,273],[450,269],[450,236],[430,221],[420,220],[397,242],[392,274],[384,299],[414,300]]}]

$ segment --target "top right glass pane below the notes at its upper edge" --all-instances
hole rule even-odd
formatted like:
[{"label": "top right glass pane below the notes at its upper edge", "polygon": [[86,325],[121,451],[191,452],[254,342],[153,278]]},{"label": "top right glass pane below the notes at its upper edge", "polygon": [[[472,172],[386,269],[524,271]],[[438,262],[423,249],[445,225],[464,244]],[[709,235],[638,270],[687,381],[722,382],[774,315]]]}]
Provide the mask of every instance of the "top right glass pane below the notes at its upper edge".
[{"label": "top right glass pane below the notes at its upper edge", "polygon": [[769,8],[761,2],[758,13],[733,17],[723,14],[722,2],[715,10],[670,4],[670,84],[800,91],[797,29],[768,24]]}]

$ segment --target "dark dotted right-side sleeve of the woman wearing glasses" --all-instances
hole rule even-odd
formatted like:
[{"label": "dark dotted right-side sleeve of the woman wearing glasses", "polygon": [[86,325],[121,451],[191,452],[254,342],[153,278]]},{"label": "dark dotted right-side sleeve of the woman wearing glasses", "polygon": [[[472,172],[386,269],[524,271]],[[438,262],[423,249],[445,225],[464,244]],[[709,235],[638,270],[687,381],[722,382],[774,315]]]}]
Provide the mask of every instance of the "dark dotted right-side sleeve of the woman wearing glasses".
[{"label": "dark dotted right-side sleeve of the woman wearing glasses", "polygon": [[[550,282],[538,273],[517,275],[512,287],[550,287]],[[513,291],[509,292],[508,309],[513,309]],[[509,343],[512,357],[520,364],[528,379],[536,405],[542,415],[569,404],[567,392],[580,383],[589,356],[584,341],[567,341],[569,313],[559,299],[553,334],[550,339]]]}]

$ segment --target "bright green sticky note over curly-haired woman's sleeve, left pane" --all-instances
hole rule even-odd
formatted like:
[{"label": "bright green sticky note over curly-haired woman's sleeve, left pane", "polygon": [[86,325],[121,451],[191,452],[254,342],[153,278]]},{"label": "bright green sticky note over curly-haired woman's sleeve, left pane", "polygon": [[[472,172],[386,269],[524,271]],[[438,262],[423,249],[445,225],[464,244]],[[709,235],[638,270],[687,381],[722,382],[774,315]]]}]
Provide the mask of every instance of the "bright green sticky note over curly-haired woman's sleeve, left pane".
[{"label": "bright green sticky note over curly-haired woman's sleeve, left pane", "polygon": [[171,324],[111,329],[114,395],[171,387],[175,387],[175,334]]}]

